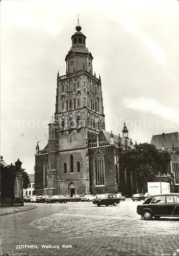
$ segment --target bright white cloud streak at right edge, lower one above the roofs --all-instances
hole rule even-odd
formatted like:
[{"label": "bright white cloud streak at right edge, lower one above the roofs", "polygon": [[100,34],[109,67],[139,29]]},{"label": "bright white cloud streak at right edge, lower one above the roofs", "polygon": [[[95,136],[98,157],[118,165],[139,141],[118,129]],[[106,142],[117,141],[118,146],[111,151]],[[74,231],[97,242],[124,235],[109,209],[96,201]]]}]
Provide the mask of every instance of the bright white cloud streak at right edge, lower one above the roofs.
[{"label": "bright white cloud streak at right edge, lower one above the roofs", "polygon": [[123,103],[126,108],[134,109],[141,112],[151,112],[152,114],[159,115],[165,119],[178,122],[178,116],[172,108],[167,108],[154,99],[145,97],[138,98],[124,98]]}]

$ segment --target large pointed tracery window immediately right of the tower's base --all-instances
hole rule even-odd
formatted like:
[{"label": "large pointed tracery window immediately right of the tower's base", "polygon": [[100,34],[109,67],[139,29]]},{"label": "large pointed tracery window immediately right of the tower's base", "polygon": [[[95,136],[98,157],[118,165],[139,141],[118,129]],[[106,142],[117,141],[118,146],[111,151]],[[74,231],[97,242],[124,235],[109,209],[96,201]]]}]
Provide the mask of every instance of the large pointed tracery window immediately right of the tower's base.
[{"label": "large pointed tracery window immediately right of the tower's base", "polygon": [[105,185],[105,162],[104,156],[98,151],[94,155],[94,184],[95,186]]}]

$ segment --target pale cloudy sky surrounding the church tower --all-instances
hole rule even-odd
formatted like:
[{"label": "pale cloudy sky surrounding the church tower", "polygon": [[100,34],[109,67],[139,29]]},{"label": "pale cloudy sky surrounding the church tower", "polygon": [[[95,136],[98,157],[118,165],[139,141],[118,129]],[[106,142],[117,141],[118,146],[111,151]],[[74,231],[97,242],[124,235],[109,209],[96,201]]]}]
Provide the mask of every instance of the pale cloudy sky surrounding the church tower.
[{"label": "pale cloudy sky surrounding the church tower", "polygon": [[2,0],[1,155],[34,173],[47,144],[57,72],[66,72],[78,13],[93,72],[100,74],[106,130],[133,142],[178,131],[179,1]]}]

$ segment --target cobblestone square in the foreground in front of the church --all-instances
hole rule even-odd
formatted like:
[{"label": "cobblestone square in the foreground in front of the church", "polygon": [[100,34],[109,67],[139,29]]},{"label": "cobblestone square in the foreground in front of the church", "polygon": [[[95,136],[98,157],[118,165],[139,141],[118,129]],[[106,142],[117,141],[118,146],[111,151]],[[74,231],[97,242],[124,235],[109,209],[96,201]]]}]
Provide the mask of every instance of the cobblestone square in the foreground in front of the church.
[{"label": "cobblestone square in the foreground in front of the church", "polygon": [[[172,255],[179,247],[178,219],[145,221],[136,214],[138,203],[39,204],[31,211],[3,216],[2,254]],[[35,248],[20,248],[25,246]]]}]

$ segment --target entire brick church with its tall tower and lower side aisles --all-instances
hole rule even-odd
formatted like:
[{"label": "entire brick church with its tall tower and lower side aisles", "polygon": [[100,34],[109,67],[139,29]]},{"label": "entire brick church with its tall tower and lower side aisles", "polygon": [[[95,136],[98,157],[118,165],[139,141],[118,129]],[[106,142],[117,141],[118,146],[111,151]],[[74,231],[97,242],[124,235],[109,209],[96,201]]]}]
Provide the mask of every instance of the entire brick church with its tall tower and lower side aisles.
[{"label": "entire brick church with its tall tower and lower side aisles", "polygon": [[34,195],[132,191],[131,174],[119,173],[118,154],[134,145],[125,123],[122,136],[105,130],[101,78],[93,72],[93,56],[81,29],[78,20],[65,57],[66,74],[57,74],[48,143],[43,150],[36,146]]}]

